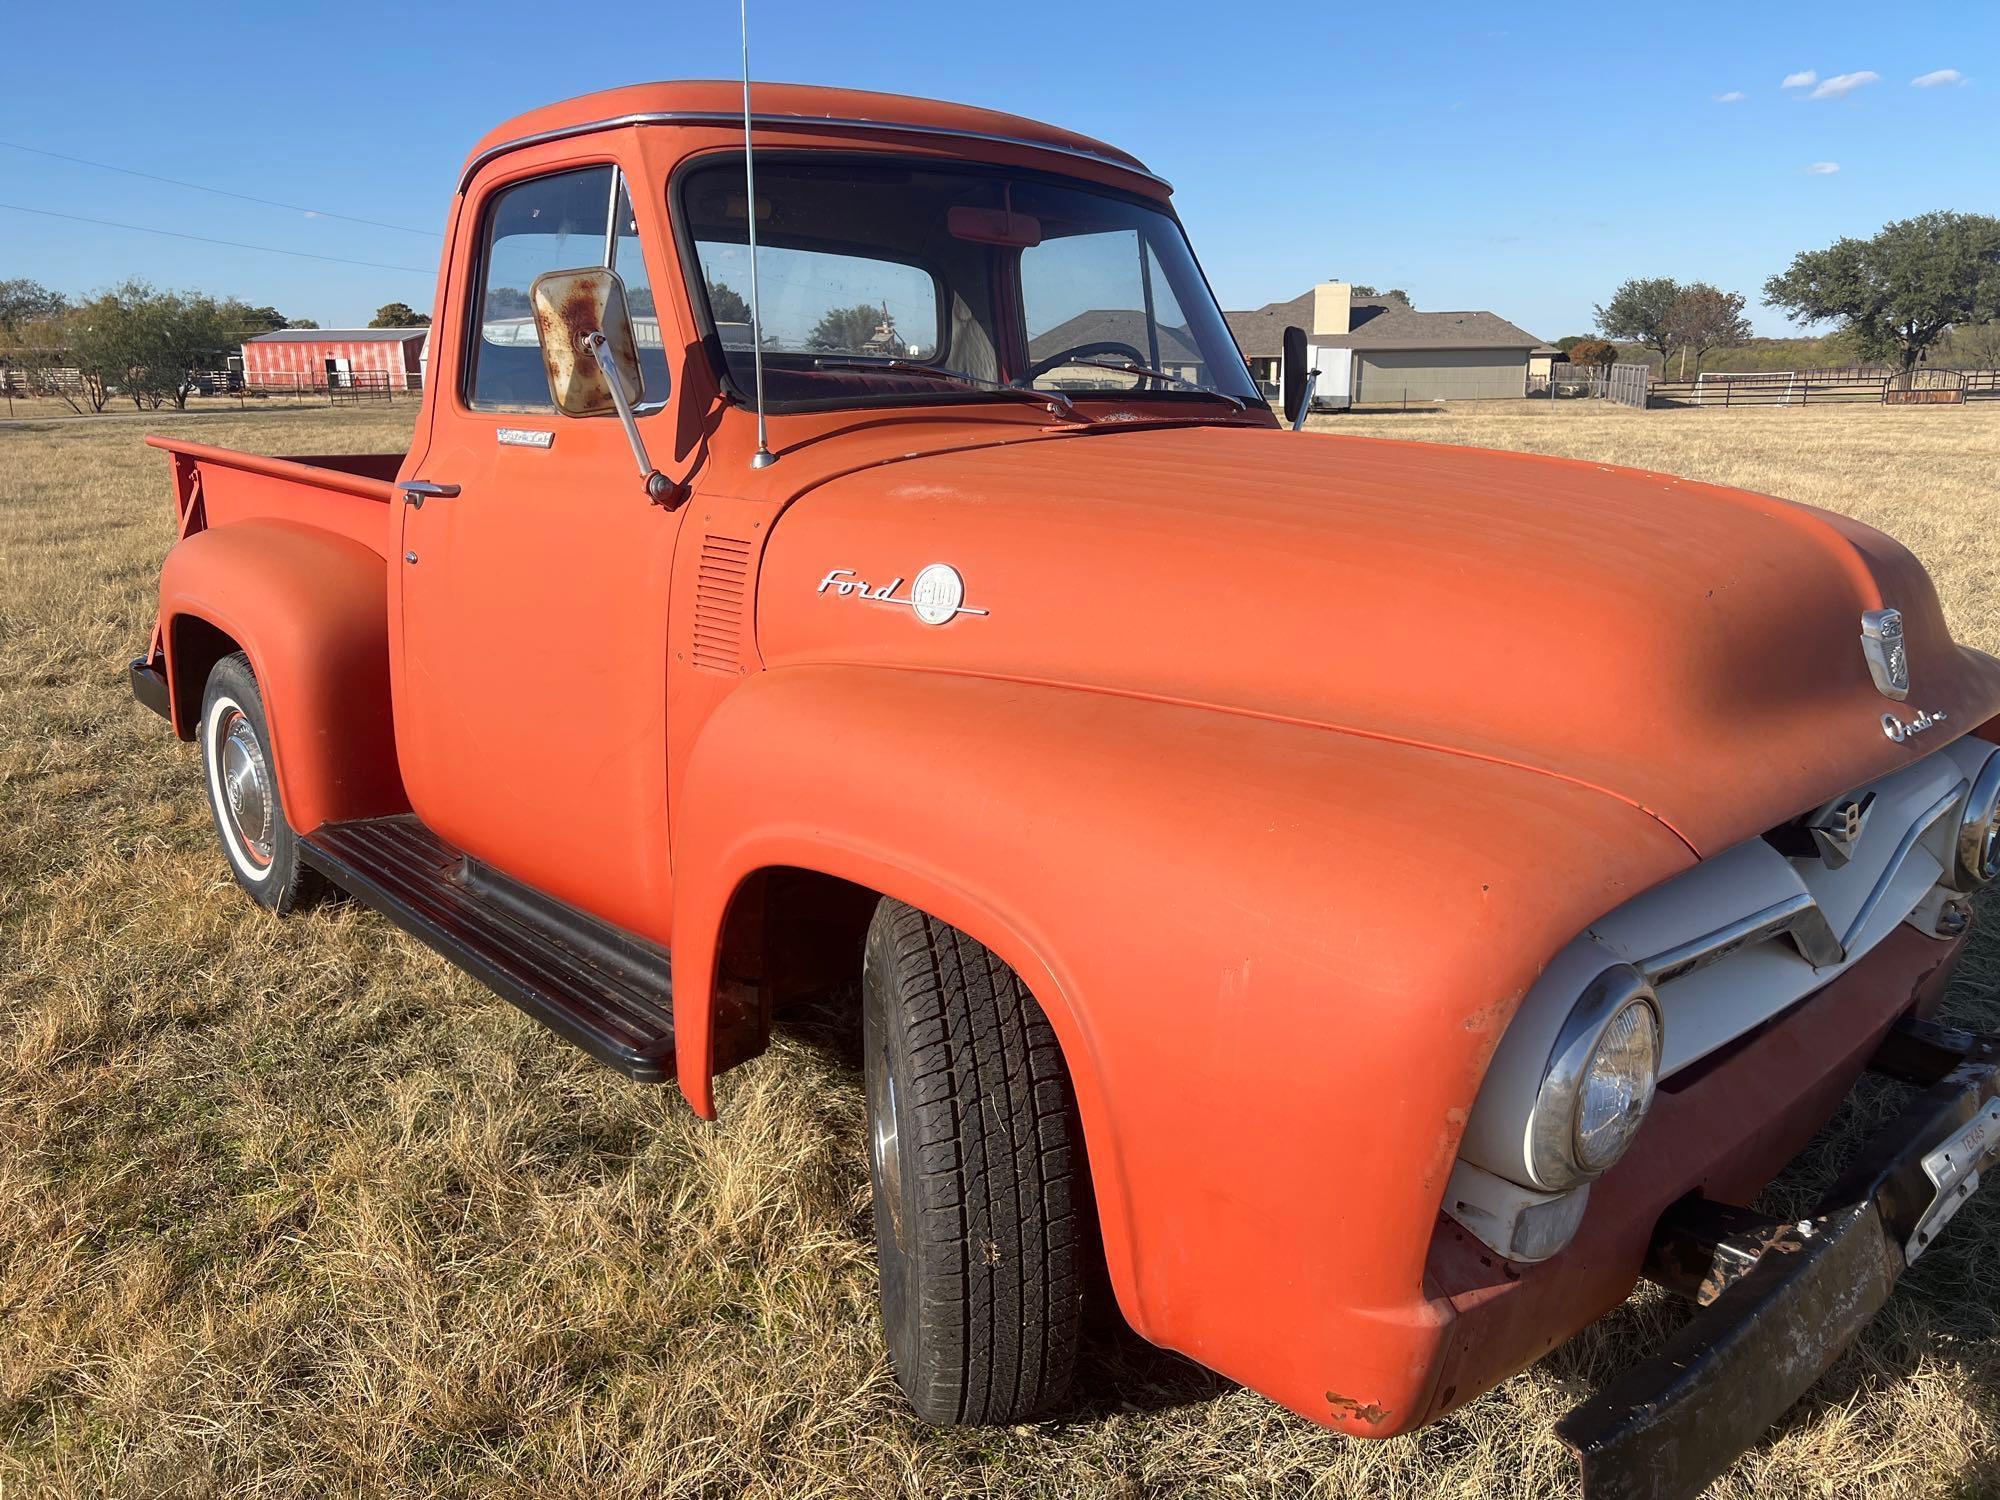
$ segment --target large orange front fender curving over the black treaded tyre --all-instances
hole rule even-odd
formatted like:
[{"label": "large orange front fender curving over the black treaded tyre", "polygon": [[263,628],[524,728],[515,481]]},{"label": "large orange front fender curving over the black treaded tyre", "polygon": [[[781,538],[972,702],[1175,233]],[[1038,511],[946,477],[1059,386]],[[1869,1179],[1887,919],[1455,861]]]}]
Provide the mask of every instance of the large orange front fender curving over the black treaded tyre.
[{"label": "large orange front fender curving over the black treaded tyre", "polygon": [[1392,1432],[1428,1404],[1446,1314],[1424,1256],[1492,1048],[1548,956],[1692,854],[1624,802],[1490,760],[798,666],[704,728],[674,862],[696,1110],[748,876],[800,866],[922,906],[1048,1012],[1126,1318],[1294,1410]]}]

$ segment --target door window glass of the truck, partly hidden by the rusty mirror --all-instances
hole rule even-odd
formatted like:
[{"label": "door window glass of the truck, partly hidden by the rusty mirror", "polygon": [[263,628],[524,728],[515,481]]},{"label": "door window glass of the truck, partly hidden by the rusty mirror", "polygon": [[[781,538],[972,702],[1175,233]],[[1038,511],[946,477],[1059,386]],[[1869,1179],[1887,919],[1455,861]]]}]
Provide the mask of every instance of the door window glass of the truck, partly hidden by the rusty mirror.
[{"label": "door window glass of the truck, partly hidden by the rusty mirror", "polygon": [[480,254],[478,336],[468,340],[466,400],[472,406],[552,410],[528,288],[546,270],[606,262],[612,180],[614,168],[588,166],[494,194]]}]

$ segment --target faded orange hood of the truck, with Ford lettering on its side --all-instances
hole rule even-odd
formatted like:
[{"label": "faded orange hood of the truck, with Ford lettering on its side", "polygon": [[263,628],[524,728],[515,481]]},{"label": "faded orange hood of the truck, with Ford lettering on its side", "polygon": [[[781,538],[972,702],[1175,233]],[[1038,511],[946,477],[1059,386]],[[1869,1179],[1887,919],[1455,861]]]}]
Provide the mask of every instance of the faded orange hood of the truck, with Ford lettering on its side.
[{"label": "faded orange hood of the truck, with Ford lettering on its side", "polygon": [[[906,602],[930,564],[962,580],[942,624]],[[1906,702],[1862,654],[1876,608],[1904,616]],[[1858,522],[1274,430],[1082,430],[844,474],[784,512],[756,618],[768,666],[976,672],[1434,746],[1618,796],[1700,854],[2000,714],[2000,662],[1956,646],[1922,566]],[[1946,722],[1890,740],[1884,714],[1918,710]]]}]

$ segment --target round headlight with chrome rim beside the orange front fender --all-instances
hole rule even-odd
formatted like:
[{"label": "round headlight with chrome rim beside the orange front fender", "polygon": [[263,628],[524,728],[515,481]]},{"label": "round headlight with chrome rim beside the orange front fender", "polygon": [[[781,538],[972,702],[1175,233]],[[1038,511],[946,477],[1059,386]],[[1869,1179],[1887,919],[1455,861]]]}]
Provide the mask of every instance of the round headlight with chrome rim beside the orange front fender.
[{"label": "round headlight with chrome rim beside the orange front fender", "polygon": [[1598,974],[1556,1036],[1528,1120],[1528,1168],[1556,1192],[1604,1172],[1660,1082],[1660,1006],[1638,970]]}]

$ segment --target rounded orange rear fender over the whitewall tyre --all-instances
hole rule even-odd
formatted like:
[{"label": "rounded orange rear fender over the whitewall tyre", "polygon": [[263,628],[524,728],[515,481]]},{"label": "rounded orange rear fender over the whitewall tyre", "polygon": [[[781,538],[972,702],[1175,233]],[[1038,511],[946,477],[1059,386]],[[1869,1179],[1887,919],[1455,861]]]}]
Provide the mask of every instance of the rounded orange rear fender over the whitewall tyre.
[{"label": "rounded orange rear fender over the whitewall tyre", "polygon": [[346,536],[242,520],[174,544],[160,570],[174,732],[188,740],[224,648],[256,670],[290,822],[408,812],[388,674],[388,564]]}]

